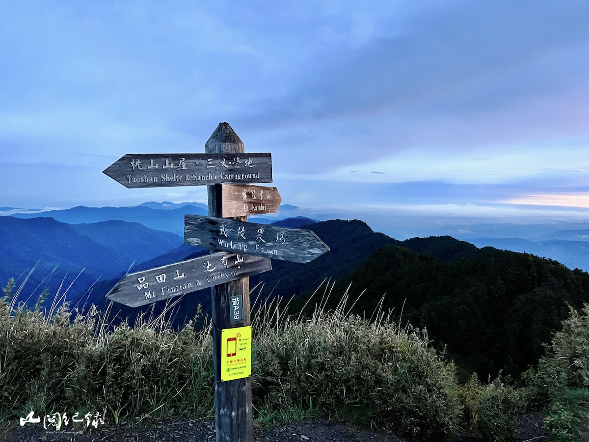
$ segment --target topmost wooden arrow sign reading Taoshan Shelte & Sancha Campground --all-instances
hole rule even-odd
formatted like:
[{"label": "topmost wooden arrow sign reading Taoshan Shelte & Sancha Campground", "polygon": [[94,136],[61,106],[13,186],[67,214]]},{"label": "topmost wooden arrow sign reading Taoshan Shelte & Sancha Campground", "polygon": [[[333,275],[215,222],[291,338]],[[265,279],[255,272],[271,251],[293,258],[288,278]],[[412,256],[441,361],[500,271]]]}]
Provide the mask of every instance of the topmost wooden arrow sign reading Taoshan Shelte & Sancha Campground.
[{"label": "topmost wooden arrow sign reading Taoshan Shelte & Sancha Campground", "polygon": [[271,183],[272,154],[127,154],[103,173],[129,188]]}]

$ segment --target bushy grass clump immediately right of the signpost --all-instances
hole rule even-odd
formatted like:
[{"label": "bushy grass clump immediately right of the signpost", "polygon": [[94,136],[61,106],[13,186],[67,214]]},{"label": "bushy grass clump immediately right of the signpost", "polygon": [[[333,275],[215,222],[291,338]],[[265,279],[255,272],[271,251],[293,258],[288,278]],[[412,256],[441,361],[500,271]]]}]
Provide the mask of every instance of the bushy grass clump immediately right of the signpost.
[{"label": "bushy grass clump immediately right of the signpost", "polygon": [[426,332],[401,331],[382,315],[348,316],[343,305],[254,328],[256,409],[312,410],[421,439],[454,433],[462,418],[455,368]]}]

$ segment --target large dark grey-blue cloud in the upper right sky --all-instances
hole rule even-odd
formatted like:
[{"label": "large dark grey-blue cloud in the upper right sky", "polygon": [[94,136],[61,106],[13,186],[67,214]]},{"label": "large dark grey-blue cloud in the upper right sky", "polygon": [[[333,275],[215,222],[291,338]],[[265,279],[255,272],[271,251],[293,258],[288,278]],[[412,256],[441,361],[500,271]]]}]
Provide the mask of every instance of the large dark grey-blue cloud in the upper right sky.
[{"label": "large dark grey-blue cloud in the upper right sky", "polygon": [[460,3],[424,12],[409,18],[401,34],[393,29],[390,37],[372,38],[354,50],[318,54],[322,62],[291,97],[268,103],[277,111],[269,121],[379,113],[383,108],[481,113],[561,89],[564,78],[584,80],[588,61],[570,57],[574,67],[566,70],[561,64],[537,69],[538,64],[587,45],[589,29],[582,17],[588,14],[583,2],[570,8],[541,2],[532,8],[521,1]]}]

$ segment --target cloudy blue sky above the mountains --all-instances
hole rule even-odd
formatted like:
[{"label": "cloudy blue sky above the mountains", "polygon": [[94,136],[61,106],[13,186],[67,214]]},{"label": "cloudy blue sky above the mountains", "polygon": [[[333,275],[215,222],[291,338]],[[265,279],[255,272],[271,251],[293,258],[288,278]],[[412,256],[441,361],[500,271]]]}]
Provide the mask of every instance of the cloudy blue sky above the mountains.
[{"label": "cloudy blue sky above the mountains", "polygon": [[589,220],[584,0],[25,0],[0,20],[0,207],[206,203],[102,170],[204,153],[226,121],[317,217]]}]

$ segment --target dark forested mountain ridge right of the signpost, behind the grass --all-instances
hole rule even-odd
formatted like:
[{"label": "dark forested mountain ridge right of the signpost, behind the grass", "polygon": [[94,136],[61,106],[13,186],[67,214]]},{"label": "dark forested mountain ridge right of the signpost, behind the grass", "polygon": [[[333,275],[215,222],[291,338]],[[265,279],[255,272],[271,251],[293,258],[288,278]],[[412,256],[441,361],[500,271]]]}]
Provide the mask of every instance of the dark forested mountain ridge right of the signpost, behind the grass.
[{"label": "dark forested mountain ridge right of the signpost, behind the grass", "polygon": [[[289,304],[291,314],[301,311],[329,275],[335,285],[327,308],[335,308],[350,286],[352,312],[369,317],[384,296],[382,309],[393,309],[393,320],[403,326],[427,329],[433,345],[446,348],[465,380],[472,371],[481,378],[499,371],[517,378],[541,357],[543,344],[567,319],[570,307],[589,301],[589,274],[554,260],[477,249],[449,236],[400,242],[371,235],[359,221],[309,228],[332,252],[309,268],[281,263],[266,275],[274,295],[296,295]],[[322,293],[309,302],[307,312]]]}]

